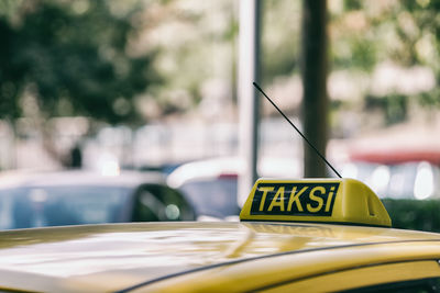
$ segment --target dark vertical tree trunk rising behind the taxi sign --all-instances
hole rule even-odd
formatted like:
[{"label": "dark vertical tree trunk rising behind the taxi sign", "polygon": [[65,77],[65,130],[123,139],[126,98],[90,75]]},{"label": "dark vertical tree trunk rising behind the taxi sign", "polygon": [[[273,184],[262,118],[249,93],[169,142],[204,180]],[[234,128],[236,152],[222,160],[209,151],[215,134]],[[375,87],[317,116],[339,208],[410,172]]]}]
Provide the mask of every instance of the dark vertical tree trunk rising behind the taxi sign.
[{"label": "dark vertical tree trunk rising behind the taxi sign", "polygon": [[[327,1],[302,1],[302,127],[305,136],[324,156],[328,136]],[[324,161],[304,145],[305,177],[326,177]]]}]

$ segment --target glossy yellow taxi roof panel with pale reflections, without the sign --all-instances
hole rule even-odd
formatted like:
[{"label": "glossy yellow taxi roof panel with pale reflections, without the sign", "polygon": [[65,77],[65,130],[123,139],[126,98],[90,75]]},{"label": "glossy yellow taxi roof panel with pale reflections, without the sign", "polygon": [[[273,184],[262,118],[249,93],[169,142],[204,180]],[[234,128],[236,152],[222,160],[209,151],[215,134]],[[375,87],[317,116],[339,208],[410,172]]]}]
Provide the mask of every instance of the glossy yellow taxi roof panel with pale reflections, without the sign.
[{"label": "glossy yellow taxi roof panel with pale reflections, without the sign", "polygon": [[222,275],[216,270],[245,267],[242,275],[258,275],[263,268],[307,267],[304,258],[312,270],[322,251],[338,257],[326,260],[329,269],[440,256],[438,234],[309,223],[72,226],[1,232],[0,239],[0,289],[45,292],[180,288],[182,278]]}]

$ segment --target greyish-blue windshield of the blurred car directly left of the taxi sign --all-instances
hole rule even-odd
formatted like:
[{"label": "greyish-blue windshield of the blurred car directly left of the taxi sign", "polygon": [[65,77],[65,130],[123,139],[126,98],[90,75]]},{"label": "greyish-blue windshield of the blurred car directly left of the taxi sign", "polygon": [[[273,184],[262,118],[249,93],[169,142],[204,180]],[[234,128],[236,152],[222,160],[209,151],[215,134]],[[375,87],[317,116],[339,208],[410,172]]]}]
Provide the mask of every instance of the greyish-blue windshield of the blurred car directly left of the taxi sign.
[{"label": "greyish-blue windshield of the blurred car directly left of the taxi sign", "polygon": [[226,217],[240,213],[237,203],[237,177],[191,180],[179,188],[198,215]]}]

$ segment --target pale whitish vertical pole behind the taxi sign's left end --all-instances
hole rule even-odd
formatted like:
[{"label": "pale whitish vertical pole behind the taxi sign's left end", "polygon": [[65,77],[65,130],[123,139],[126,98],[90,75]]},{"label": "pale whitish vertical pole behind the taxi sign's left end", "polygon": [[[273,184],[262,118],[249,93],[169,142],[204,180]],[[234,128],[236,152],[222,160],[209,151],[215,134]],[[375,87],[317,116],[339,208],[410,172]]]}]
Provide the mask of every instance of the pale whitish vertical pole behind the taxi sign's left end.
[{"label": "pale whitish vertical pole behind the taxi sign's left end", "polygon": [[252,84],[258,82],[260,0],[240,1],[239,38],[239,144],[244,170],[239,177],[238,202],[242,206],[257,179],[258,95]]}]

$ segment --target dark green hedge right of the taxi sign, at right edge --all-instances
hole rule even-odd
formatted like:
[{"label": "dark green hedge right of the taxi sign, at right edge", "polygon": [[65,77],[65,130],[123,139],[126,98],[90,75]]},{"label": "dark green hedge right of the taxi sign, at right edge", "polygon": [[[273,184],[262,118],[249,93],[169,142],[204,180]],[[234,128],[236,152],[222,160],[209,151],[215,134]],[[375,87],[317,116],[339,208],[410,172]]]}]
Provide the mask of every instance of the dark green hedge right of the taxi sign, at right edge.
[{"label": "dark green hedge right of the taxi sign, at right edge", "polygon": [[440,232],[439,200],[382,200],[394,228]]}]

